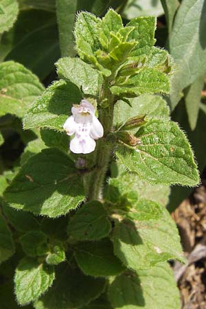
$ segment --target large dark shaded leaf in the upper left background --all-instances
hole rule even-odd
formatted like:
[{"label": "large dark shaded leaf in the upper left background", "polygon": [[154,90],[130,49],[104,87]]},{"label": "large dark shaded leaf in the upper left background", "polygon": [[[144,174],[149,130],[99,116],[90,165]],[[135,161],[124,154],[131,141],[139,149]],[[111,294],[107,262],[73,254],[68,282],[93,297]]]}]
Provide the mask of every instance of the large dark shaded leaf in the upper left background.
[{"label": "large dark shaded leaf in the upper left background", "polygon": [[21,11],[14,27],[3,34],[1,45],[5,60],[20,62],[43,80],[54,71],[54,62],[60,58],[56,14]]}]

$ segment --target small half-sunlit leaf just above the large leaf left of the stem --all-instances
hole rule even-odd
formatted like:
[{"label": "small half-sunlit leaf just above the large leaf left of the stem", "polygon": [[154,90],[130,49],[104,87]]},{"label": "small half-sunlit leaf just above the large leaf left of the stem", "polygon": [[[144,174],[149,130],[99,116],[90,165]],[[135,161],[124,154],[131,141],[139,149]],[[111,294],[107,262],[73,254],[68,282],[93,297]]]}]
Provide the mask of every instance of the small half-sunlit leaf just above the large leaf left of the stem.
[{"label": "small half-sunlit leaf just above the large leaf left of the stem", "polygon": [[34,141],[30,141],[25,147],[23,154],[21,155],[21,165],[25,164],[28,159],[36,155],[41,150],[47,148],[42,139],[34,139]]}]

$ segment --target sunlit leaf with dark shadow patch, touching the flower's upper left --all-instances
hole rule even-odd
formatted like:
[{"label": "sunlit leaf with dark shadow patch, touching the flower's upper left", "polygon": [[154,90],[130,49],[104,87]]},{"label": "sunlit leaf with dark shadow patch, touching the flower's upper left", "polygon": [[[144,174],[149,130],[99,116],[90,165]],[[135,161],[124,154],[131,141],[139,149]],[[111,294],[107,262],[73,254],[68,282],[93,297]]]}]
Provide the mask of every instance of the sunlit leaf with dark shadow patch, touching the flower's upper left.
[{"label": "sunlit leaf with dark shadow patch, touching the flower's upper left", "polygon": [[82,93],[71,82],[59,80],[48,87],[23,119],[25,129],[41,127],[63,131],[71,107],[82,100]]}]

